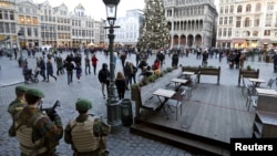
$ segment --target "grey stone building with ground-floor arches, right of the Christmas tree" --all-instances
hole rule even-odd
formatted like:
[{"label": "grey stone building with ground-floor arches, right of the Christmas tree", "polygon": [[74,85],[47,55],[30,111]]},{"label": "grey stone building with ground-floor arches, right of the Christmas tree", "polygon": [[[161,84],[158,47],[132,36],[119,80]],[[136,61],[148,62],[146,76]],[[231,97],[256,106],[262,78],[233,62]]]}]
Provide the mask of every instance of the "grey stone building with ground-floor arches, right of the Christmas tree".
[{"label": "grey stone building with ground-floor arches, right of the Christmas tree", "polygon": [[215,45],[216,7],[214,0],[164,0],[171,31],[171,48]]}]

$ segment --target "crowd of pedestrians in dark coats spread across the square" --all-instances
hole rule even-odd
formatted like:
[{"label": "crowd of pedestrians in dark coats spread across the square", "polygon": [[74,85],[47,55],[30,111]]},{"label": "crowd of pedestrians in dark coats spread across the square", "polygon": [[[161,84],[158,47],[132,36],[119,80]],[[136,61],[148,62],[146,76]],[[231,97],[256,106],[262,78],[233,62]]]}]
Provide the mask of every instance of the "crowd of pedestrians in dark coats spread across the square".
[{"label": "crowd of pedestrians in dark coats spread across the square", "polygon": [[[105,51],[71,51],[68,52],[66,56],[63,59],[60,52],[48,52],[45,53],[47,58],[37,58],[37,67],[40,71],[42,81],[44,82],[50,82],[51,77],[57,81],[59,75],[63,75],[64,73],[66,73],[69,85],[73,82],[74,79],[76,79],[76,82],[81,82],[81,77],[83,76],[83,74],[91,75],[91,73],[93,72],[93,74],[99,79],[101,91],[103,97],[105,98],[111,81],[111,69],[109,65],[109,61],[106,63],[100,64],[101,67],[98,69],[98,54],[100,53],[106,54]],[[131,53],[135,56],[134,62],[127,60]],[[119,59],[121,61],[121,65],[116,69],[119,73],[115,73],[116,76],[114,77],[114,81],[119,81],[115,83],[115,85],[120,98],[124,98],[125,91],[130,91],[131,85],[140,82],[142,80],[141,77],[148,77],[153,74],[160,74],[165,62],[171,61],[172,66],[179,66],[182,64],[185,64],[185,62],[179,62],[179,58],[188,56],[191,54],[195,54],[196,60],[202,59],[202,63],[199,65],[204,67],[208,65],[209,59],[217,59],[218,63],[220,63],[222,59],[225,56],[227,63],[229,64],[229,69],[243,69],[245,67],[244,62],[247,60],[246,53],[238,49],[218,50],[197,48],[184,50],[160,49],[154,54],[154,62],[150,62],[148,56],[153,55],[153,50],[151,49],[137,49],[132,52],[124,49],[119,49],[117,52],[114,52],[113,64],[114,67],[116,67],[116,60]],[[273,55],[271,59],[275,63],[274,72],[277,72],[277,55]],[[84,62],[84,64],[82,64],[82,62]],[[57,71],[55,75],[54,71]],[[122,83],[123,80],[125,81],[124,84]],[[123,89],[125,89],[124,92]]]}]

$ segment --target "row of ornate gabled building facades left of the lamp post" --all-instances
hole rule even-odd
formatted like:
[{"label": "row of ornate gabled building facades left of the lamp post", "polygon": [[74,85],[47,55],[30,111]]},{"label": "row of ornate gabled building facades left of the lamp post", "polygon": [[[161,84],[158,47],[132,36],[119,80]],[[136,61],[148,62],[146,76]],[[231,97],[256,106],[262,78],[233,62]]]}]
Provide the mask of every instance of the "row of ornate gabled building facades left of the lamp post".
[{"label": "row of ornate gabled building facades left of the lamp post", "polygon": [[[49,45],[52,48],[85,46],[104,43],[105,22],[85,14],[82,4],[72,12],[61,3],[52,7],[49,1],[0,0],[0,48],[12,49]],[[18,37],[19,30],[23,35]]]}]

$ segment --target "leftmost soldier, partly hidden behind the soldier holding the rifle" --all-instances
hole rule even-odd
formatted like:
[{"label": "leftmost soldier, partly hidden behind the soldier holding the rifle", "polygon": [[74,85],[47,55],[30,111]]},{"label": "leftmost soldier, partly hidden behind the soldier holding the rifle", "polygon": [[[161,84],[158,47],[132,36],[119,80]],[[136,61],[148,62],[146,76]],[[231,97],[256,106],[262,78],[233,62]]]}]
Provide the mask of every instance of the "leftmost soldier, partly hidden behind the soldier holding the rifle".
[{"label": "leftmost soldier, partly hidden behind the soldier holding the rifle", "polygon": [[10,136],[16,136],[16,132],[14,132],[14,115],[22,111],[23,107],[27,105],[27,102],[25,102],[25,98],[24,98],[24,94],[25,94],[25,91],[28,89],[23,85],[19,85],[16,87],[16,100],[13,100],[9,107],[8,107],[8,112],[11,114],[11,117],[12,117],[12,125],[9,129],[9,135]]}]

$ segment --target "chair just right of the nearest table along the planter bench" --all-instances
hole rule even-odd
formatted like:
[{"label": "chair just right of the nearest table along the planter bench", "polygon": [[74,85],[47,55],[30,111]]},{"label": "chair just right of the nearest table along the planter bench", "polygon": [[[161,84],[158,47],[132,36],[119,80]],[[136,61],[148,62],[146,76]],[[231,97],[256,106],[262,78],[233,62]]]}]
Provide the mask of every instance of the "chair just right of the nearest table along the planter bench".
[{"label": "chair just right of the nearest table along the planter bench", "polygon": [[[178,110],[182,114],[182,105],[185,100],[185,94],[186,91],[178,90],[176,94],[165,103],[167,113],[176,113],[176,121],[178,119]],[[175,112],[172,108],[175,108]]]}]

